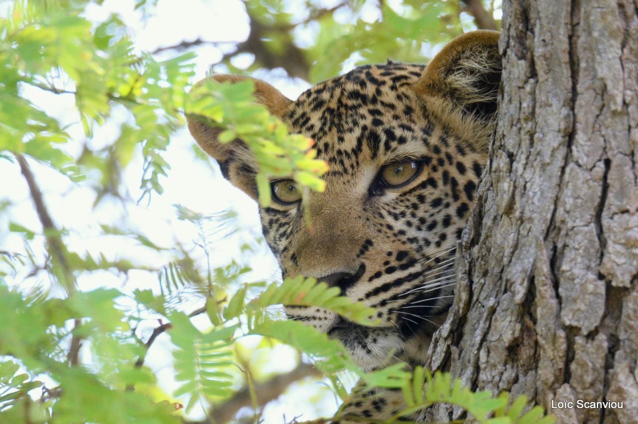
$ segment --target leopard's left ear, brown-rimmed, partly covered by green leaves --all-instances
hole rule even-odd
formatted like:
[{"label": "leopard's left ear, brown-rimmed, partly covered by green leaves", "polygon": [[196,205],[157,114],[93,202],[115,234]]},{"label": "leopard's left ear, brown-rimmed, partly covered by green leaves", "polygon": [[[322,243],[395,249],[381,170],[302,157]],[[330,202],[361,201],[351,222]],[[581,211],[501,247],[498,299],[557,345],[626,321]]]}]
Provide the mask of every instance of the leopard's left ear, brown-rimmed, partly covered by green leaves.
[{"label": "leopard's left ear, brown-rimmed, partly covered by green leaves", "polygon": [[[211,80],[218,83],[225,81],[230,81],[230,83],[245,80],[253,81],[255,83],[255,99],[266,106],[273,115],[280,118],[292,102],[292,100],[281,94],[277,88],[272,87],[265,81],[237,75],[214,75],[204,78],[204,80],[195,84],[193,90]],[[205,93],[198,92],[197,95],[205,95]],[[188,130],[198,145],[204,152],[217,160],[223,176],[233,185],[241,188],[250,197],[256,199],[255,174],[257,173],[257,162],[248,145],[241,139],[235,139],[230,143],[220,143],[218,136],[223,130],[208,125],[207,120],[200,115],[186,115],[186,121],[188,122]]]}]

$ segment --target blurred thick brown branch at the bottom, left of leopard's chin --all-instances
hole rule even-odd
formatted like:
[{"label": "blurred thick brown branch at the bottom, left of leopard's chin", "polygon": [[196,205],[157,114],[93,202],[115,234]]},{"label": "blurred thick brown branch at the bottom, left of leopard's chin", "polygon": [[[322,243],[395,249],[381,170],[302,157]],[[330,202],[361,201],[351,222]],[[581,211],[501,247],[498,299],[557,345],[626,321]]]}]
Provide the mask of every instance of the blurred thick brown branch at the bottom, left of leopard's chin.
[{"label": "blurred thick brown branch at the bottom, left of leopard's chin", "polygon": [[[277,399],[286,391],[286,388],[295,381],[299,381],[302,378],[309,376],[320,377],[322,372],[318,371],[311,364],[301,362],[295,369],[286,373],[279,374],[269,379],[265,383],[259,383],[255,385],[255,393],[259,406],[264,406],[268,402]],[[226,423],[237,414],[237,411],[244,406],[251,404],[251,396],[249,387],[246,386],[235,393],[233,397],[226,400],[223,404],[211,407],[208,416],[214,418],[216,423]],[[209,421],[194,421],[191,424],[204,424]]]}]

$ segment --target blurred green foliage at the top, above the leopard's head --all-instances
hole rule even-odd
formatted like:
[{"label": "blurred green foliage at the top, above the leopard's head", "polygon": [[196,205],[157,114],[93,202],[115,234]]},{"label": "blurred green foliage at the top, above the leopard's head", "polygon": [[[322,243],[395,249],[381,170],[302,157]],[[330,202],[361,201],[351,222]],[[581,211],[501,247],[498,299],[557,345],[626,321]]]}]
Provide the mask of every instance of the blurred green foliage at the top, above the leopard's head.
[{"label": "blurred green foliage at the top, above the leopard's head", "polygon": [[[478,22],[482,29],[498,29],[500,25],[491,18],[500,8],[499,0],[472,2],[488,17],[483,20],[474,20],[469,14],[472,8],[458,0],[346,0],[329,2],[330,6],[322,6],[322,1],[304,3],[305,12],[300,16],[293,13],[291,2],[246,0],[251,29],[248,39],[226,53],[223,65],[214,69],[251,73],[281,67],[289,76],[316,83],[338,75],[345,64],[375,64],[388,59],[424,63],[433,46],[443,46],[461,32],[477,29]],[[312,41],[306,41],[308,38]],[[204,43],[211,41],[198,39],[188,46]],[[252,64],[246,69],[234,67],[232,59],[246,53],[251,55]],[[327,57],[330,60],[325,60]]]}]

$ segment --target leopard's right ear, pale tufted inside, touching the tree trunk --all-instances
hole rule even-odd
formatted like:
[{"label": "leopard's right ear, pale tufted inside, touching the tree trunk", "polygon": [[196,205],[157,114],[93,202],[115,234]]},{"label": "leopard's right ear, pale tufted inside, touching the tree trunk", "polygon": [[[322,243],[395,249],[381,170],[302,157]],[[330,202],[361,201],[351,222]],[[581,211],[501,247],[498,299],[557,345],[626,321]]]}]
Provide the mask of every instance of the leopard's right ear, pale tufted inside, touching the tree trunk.
[{"label": "leopard's right ear, pale tufted inside, touching the tree trunk", "polygon": [[464,116],[491,121],[501,82],[499,36],[496,31],[473,31],[453,39],[427,65],[415,92],[452,101]]}]

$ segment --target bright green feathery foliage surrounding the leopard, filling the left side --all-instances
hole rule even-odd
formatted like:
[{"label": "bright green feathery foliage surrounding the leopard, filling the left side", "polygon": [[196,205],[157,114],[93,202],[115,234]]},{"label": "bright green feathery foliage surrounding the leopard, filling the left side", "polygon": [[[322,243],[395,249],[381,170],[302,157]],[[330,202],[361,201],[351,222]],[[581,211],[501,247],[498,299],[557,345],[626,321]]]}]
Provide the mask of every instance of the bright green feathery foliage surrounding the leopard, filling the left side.
[{"label": "bright green feathery foliage surrounding the leopard, filling the left side", "polygon": [[[126,222],[97,223],[100,237],[142,248],[148,257],[162,258],[159,262],[69,248],[82,229],[55,227],[37,188],[38,174],[34,178],[28,171],[24,157],[59,171],[79,185],[75,187],[91,190],[94,208],[107,198],[125,207],[135,204],[122,175],[131,164],[142,164],[135,197],[150,202],[151,194],[163,192],[161,178],[170,171],[167,147],[183,126],[184,113],[197,113],[224,129],[222,139],[242,138],[256,152],[263,204],[269,202],[269,176],[293,175],[309,189],[322,190],[320,176],[326,170],[309,149],[311,141],[288,134],[283,123],[253,101],[251,83],[209,83],[195,90],[200,95],[189,96],[195,54],[157,60],[156,54],[140,52],[117,13],[97,22],[87,18],[88,8],[101,3],[0,2],[0,161],[20,165],[43,227],[10,222],[0,233],[24,243],[21,249],[0,250],[0,318],[9,323],[0,327],[0,422],[182,422],[182,407],[189,412],[200,405],[206,411],[212,405],[214,414],[246,387],[258,416],[263,409],[254,396],[255,381],[272,376],[263,364],[282,344],[312,361],[344,400],[347,370],[364,385],[403,390],[409,409],[399,415],[450,402],[479,421],[491,413],[491,422],[519,420],[524,399],[506,410],[506,396],[472,393],[447,374],[431,377],[422,369],[408,372],[401,364],[366,373],[338,341],[303,323],[281,320],[278,305],[288,304],[323,307],[364,325],[375,324],[373,309],[314,279],[246,282],[250,268],[241,258],[212,266],[214,243],[237,230],[232,211],[205,215],[175,205],[177,220],[197,236],[188,245],[169,247]],[[281,66],[290,76],[309,81],[388,57],[423,62],[432,46],[472,25],[471,18],[463,22],[464,6],[454,1],[357,0],[329,8],[306,1],[302,15],[281,0],[247,0],[245,5],[251,35],[219,66],[243,73]],[[155,6],[151,0],[135,3],[144,20],[152,17]],[[302,32],[312,41],[298,42]],[[246,52],[255,57],[253,64],[235,69],[232,59]],[[82,127],[81,139],[71,137],[68,125],[40,108],[34,92],[71,99],[66,104]],[[117,136],[93,143],[105,124],[117,126]],[[202,159],[200,153],[196,156]],[[11,216],[12,208],[11,199],[0,201],[0,216]],[[258,246],[254,240],[241,251],[249,256]],[[131,288],[136,272],[156,275],[156,285]],[[90,290],[78,285],[86,276],[105,275],[121,285]],[[158,337],[172,346],[179,383],[172,394],[160,388],[156,370],[145,364]],[[251,337],[260,342],[249,354],[245,343]],[[539,415],[532,409],[525,417],[530,414],[540,418],[542,411]],[[519,422],[528,422],[524,420],[530,419]]]}]

